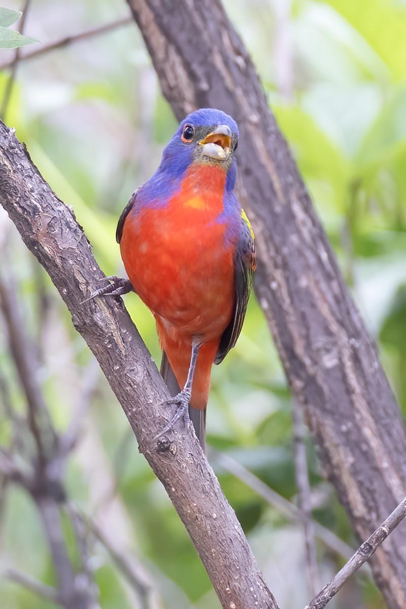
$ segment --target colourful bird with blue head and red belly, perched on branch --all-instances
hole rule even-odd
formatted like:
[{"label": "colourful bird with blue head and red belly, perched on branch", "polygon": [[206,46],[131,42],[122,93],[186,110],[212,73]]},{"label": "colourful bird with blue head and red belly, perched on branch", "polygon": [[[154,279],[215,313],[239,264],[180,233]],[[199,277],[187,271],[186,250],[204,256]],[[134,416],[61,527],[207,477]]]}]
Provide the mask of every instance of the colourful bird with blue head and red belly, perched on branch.
[{"label": "colourful bird with blue head and red belly, perched on branch", "polygon": [[188,412],[204,450],[210,372],[235,346],[256,268],[253,230],[234,191],[238,138],[221,110],[186,116],[120,216],[116,239],[128,279],[106,278],[91,296],[133,290],[150,308],[168,403],[177,406],[157,437]]}]

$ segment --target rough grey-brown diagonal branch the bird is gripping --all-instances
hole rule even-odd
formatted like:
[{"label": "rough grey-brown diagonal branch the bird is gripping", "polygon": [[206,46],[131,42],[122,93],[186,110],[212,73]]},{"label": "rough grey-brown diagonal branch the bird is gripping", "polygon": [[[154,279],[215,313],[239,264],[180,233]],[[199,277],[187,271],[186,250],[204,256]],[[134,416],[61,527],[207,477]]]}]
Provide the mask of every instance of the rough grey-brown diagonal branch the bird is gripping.
[{"label": "rough grey-brown diagonal branch the bird is gripping", "polygon": [[178,421],[173,431],[154,440],[175,413],[162,404],[169,393],[156,365],[121,299],[82,302],[100,287],[97,280],[104,275],[72,211],[1,121],[0,205],[46,269],[75,328],[97,357],[140,451],[190,534],[222,607],[278,609],[196,436]]}]

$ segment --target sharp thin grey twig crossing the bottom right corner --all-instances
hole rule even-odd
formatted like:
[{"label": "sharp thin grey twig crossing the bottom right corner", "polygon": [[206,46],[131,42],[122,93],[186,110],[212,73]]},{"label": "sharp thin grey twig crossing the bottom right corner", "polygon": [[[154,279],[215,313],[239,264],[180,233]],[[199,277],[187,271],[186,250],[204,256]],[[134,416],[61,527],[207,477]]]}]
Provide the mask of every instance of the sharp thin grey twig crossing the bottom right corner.
[{"label": "sharp thin grey twig crossing the bottom right corner", "polygon": [[309,605],[306,605],[305,609],[324,609],[329,600],[337,594],[342,588],[345,582],[351,577],[368,558],[370,558],[377,547],[380,546],[389,533],[393,531],[395,527],[404,519],[406,516],[406,497],[404,500],[393,510],[390,516],[368,537],[366,541],[357,549],[356,553],[349,559],[349,561],[343,566],[342,569],[335,575],[332,580],[324,586],[323,590],[314,597]]}]

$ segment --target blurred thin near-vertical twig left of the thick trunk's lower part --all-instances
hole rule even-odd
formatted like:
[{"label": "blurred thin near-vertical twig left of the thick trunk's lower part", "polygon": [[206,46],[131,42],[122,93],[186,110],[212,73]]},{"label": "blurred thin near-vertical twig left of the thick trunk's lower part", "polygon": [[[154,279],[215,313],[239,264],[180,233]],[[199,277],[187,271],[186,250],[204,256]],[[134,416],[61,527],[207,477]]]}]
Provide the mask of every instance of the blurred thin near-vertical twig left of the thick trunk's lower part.
[{"label": "blurred thin near-vertical twig left of the thick trunk's lower part", "polygon": [[305,422],[300,405],[296,400],[293,403],[293,446],[295,455],[295,475],[298,490],[298,506],[300,522],[305,538],[306,571],[310,596],[320,590],[320,577],[318,574],[316,550],[314,545],[314,526],[310,499],[310,484],[308,463],[306,459]]}]

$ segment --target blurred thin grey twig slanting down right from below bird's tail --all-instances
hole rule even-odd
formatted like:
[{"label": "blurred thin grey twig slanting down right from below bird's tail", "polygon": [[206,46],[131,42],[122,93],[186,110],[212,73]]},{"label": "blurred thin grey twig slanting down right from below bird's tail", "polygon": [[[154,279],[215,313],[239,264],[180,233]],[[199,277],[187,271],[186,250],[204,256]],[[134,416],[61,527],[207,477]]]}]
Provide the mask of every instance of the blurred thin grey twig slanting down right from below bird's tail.
[{"label": "blurred thin grey twig slanting down right from below bird's tail", "polygon": [[[265,501],[275,507],[279,512],[283,513],[291,522],[296,523],[300,520],[300,512],[296,505],[287,501],[287,499],[279,495],[279,493],[264,484],[255,474],[247,470],[244,465],[241,465],[241,463],[238,463],[238,461],[229,455],[224,454],[224,452],[217,452],[213,448],[209,448],[208,453],[209,457],[215,457],[221,468],[228,471],[230,474],[233,474],[233,476],[246,484],[247,487],[252,488],[255,493],[265,499]],[[317,521],[313,520],[312,522],[315,535],[320,540],[324,541],[326,546],[331,547],[334,552],[337,552],[337,554],[340,554],[340,556],[343,556],[346,559],[353,555],[353,548],[348,546],[345,541],[342,541],[337,535],[332,533],[329,529],[326,529],[326,527],[323,527],[323,525]]]}]

